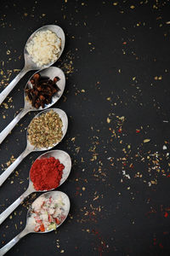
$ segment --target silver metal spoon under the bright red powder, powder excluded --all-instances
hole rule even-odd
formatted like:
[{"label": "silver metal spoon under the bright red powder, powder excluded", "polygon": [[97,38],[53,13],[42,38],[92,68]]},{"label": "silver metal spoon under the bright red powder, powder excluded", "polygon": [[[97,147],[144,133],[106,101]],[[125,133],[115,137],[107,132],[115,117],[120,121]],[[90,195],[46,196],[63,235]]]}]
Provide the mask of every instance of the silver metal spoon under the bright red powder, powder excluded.
[{"label": "silver metal spoon under the bright red powder, powder excluded", "polygon": [[[69,174],[71,172],[71,157],[65,151],[62,151],[62,150],[51,150],[51,151],[48,151],[48,152],[38,156],[37,160],[47,159],[49,157],[54,157],[55,159],[59,159],[60,163],[65,166],[65,168],[63,170],[62,178],[60,179],[60,182],[59,182],[59,186],[60,186],[60,185],[62,185],[65,182],[67,177],[69,177]],[[56,189],[56,188],[53,188],[53,189]],[[26,191],[24,192],[23,195],[20,195],[20,197],[16,201],[14,201],[14,203],[12,205],[10,205],[4,212],[2,212],[0,214],[0,224],[2,224],[3,221],[6,218],[8,218],[8,216],[16,209],[16,207],[18,207],[20,205],[20,203],[22,201],[24,201],[25,198],[28,195],[31,195],[31,193],[33,193],[33,192],[46,192],[46,191],[51,191],[53,189],[50,189],[50,190],[36,190],[34,188],[34,185],[33,185],[32,181],[31,181],[31,177],[29,175],[29,185],[28,185],[28,188],[26,189]]]}]

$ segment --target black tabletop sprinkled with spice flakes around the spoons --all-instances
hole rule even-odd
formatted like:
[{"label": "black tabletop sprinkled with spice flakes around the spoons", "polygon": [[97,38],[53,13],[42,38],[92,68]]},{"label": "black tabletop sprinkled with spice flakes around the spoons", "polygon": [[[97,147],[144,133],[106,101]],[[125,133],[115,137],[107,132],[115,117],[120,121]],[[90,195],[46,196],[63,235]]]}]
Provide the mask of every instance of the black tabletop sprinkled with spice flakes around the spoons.
[{"label": "black tabletop sprinkled with spice flakes around the spoons", "polygon": [[[40,26],[65,31],[55,66],[65,72],[68,132],[56,148],[71,155],[59,188],[71,212],[56,232],[31,234],[8,255],[169,255],[169,1],[1,1],[0,90],[24,65]],[[23,108],[27,73],[3,102],[0,131]],[[6,103],[6,104],[4,104]],[[1,172],[26,148],[28,113],[0,146]],[[147,140],[147,141],[145,141]],[[27,188],[32,153],[0,189],[0,211]],[[0,227],[0,245],[24,229],[31,195]]]}]

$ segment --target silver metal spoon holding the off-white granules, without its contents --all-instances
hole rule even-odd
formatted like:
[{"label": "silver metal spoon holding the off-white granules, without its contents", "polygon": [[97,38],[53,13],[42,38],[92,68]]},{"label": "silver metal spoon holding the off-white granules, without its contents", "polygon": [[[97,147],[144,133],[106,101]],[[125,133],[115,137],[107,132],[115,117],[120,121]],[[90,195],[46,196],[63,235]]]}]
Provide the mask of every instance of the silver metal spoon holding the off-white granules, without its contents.
[{"label": "silver metal spoon holding the off-white granules, without its contents", "polygon": [[[56,56],[56,59],[54,61],[49,62],[47,65],[43,65],[42,67],[37,67],[37,64],[35,62],[32,61],[31,55],[28,54],[28,51],[26,49],[26,46],[28,43],[31,42],[31,39],[36,35],[37,32],[40,31],[47,31],[47,30],[51,30],[52,32],[54,32],[59,38],[61,38],[61,49],[59,51],[59,54]],[[59,60],[60,55],[62,54],[64,48],[65,48],[65,33],[63,32],[62,28],[60,26],[56,26],[56,25],[46,25],[46,26],[42,26],[40,28],[37,29],[36,32],[33,32],[31,34],[31,37],[28,38],[28,40],[26,41],[26,46],[24,49],[24,57],[25,57],[25,66],[23,67],[23,69],[20,71],[20,73],[15,77],[14,80],[12,80],[12,82],[10,82],[10,84],[8,84],[8,86],[0,93],[0,105],[2,104],[2,102],[4,101],[4,99],[8,96],[8,94],[10,93],[11,90],[14,89],[14,86],[16,84],[18,84],[18,82],[20,81],[20,79],[28,72],[31,70],[41,70],[43,68],[47,68],[50,67],[54,64],[55,61]]]}]

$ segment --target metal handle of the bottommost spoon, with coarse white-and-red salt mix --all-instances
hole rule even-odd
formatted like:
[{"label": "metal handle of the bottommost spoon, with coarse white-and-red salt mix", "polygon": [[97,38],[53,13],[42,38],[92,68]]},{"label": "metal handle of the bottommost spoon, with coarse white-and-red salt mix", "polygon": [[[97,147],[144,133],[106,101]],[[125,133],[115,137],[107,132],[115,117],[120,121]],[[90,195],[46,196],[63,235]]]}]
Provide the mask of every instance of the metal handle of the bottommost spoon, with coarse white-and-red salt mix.
[{"label": "metal handle of the bottommost spoon, with coarse white-and-red salt mix", "polygon": [[10,248],[14,247],[14,245],[20,241],[20,238],[26,236],[28,233],[30,233],[30,231],[26,228],[22,230],[19,235],[15,236],[11,241],[9,241],[4,247],[0,249],[0,256],[3,256],[5,253],[7,253]]}]

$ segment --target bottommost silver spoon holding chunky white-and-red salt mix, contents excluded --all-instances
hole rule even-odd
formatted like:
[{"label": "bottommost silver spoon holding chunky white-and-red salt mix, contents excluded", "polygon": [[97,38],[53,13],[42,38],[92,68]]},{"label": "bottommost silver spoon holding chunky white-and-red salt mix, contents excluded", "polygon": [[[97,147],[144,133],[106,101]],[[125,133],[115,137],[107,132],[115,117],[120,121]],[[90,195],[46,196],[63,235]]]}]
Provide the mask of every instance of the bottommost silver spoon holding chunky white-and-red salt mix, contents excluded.
[{"label": "bottommost silver spoon holding chunky white-and-red salt mix, contents excluded", "polygon": [[[65,218],[63,218],[62,221],[60,222],[60,224],[57,225],[57,228],[58,228],[61,224],[63,224],[63,222],[64,222],[65,219],[67,218],[68,213],[69,213],[69,211],[70,211],[71,202],[70,202],[70,200],[69,200],[69,197],[68,197],[65,193],[63,193],[63,192],[61,192],[61,191],[51,191],[51,192],[42,194],[42,195],[40,195],[39,197],[42,197],[42,196],[46,197],[47,199],[48,199],[50,196],[52,196],[52,198],[54,198],[54,199],[58,199],[59,197],[62,198],[62,201],[63,201],[64,204],[65,204]],[[38,197],[38,198],[39,198],[39,197]],[[38,199],[38,198],[37,198],[37,199]],[[32,203],[32,205],[37,201],[37,199]],[[29,207],[29,210],[28,210],[28,212],[27,212],[26,228],[25,228],[24,230],[22,230],[19,235],[15,236],[13,240],[9,241],[8,244],[6,244],[4,247],[2,247],[2,248],[0,249],[0,255],[1,255],[1,256],[3,256],[5,253],[7,253],[10,248],[14,247],[14,245],[15,245],[18,241],[20,241],[20,238],[22,238],[23,236],[26,236],[26,235],[29,234],[29,233],[34,233],[34,232],[36,232],[36,231],[34,230],[34,226],[31,224],[31,221],[30,221],[30,220],[31,220],[32,205],[31,205],[31,207]],[[48,232],[53,231],[53,230],[54,230],[54,229],[45,230],[44,232],[38,232],[38,233],[48,233]],[[37,232],[36,232],[36,233],[37,233]]]}]

